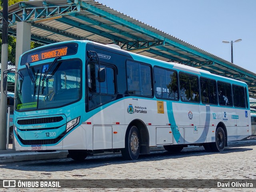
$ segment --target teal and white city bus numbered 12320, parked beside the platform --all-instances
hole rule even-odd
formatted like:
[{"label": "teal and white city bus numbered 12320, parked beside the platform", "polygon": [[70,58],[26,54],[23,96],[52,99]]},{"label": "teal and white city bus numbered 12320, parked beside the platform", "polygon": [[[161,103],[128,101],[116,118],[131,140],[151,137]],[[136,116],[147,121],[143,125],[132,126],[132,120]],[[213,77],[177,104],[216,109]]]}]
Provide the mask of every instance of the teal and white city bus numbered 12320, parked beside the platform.
[{"label": "teal and white city bus numbered 12320, parked beside the platform", "polygon": [[163,145],[222,151],[251,135],[246,83],[90,41],[20,56],[16,150],[103,151],[129,160]]}]

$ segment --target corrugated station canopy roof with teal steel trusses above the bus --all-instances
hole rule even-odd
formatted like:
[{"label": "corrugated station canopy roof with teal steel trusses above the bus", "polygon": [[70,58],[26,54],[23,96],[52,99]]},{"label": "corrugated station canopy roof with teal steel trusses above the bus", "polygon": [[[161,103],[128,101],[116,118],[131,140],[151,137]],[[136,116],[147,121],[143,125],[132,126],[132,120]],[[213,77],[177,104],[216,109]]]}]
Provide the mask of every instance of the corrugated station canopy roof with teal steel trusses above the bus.
[{"label": "corrugated station canopy roof with teal steel trusses above the bus", "polygon": [[244,81],[250,97],[256,98],[255,73],[94,0],[37,0],[9,6],[10,35],[16,36],[16,24],[21,21],[31,23],[34,42],[91,40],[117,44],[141,55]]}]

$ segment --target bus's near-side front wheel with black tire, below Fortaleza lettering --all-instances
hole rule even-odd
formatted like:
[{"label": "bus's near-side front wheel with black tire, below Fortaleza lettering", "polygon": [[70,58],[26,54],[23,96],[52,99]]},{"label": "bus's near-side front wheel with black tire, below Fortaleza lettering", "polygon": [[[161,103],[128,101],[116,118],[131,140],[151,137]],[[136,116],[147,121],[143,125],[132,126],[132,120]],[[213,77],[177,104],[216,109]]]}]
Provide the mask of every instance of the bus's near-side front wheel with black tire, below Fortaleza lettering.
[{"label": "bus's near-side front wheel with black tire, below Fortaleza lettering", "polygon": [[126,160],[136,160],[140,154],[140,134],[136,126],[132,126],[125,138],[125,148],[121,150]]}]

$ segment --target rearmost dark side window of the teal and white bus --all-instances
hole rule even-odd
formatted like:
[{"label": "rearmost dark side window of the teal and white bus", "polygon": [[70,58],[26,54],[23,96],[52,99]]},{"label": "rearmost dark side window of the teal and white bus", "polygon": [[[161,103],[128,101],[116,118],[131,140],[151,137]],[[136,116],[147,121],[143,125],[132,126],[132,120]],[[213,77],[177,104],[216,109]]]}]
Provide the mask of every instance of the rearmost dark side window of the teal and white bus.
[{"label": "rearmost dark side window of the teal and white bus", "polygon": [[245,108],[246,102],[245,102],[244,87],[238,86],[238,85],[232,85],[232,89],[233,89],[234,106]]}]

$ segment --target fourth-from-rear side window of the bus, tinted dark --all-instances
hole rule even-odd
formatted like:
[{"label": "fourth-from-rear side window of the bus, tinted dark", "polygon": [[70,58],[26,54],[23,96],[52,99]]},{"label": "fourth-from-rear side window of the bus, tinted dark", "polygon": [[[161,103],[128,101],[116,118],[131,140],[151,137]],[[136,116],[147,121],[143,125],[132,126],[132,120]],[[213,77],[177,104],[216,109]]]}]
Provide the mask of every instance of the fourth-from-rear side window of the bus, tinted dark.
[{"label": "fourth-from-rear side window of the bus, tinted dark", "polygon": [[199,102],[198,77],[180,73],[180,99],[182,101]]}]

